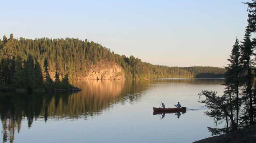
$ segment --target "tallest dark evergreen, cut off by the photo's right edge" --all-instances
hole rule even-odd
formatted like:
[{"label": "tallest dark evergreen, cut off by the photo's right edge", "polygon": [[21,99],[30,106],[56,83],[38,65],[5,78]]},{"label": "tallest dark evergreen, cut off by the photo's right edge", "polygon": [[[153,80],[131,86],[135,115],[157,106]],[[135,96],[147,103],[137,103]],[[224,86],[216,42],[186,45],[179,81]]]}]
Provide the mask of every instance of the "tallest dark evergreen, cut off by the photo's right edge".
[{"label": "tallest dark evergreen, cut off by the photo's right edge", "polygon": [[[243,102],[246,106],[243,108],[242,124],[252,125],[256,121],[256,83],[255,83],[255,47],[256,47],[256,1],[246,2],[248,5],[248,26],[241,44],[241,69],[244,88],[242,91]],[[253,38],[252,38],[253,35]]]}]

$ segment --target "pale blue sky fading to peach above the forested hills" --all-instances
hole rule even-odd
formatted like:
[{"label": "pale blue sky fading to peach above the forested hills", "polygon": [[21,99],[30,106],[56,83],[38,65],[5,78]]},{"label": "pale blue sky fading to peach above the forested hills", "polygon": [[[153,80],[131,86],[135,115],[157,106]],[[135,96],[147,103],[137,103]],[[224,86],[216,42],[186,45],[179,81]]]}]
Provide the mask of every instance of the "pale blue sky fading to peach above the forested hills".
[{"label": "pale blue sky fading to peach above the forested hills", "polygon": [[75,37],[151,64],[223,67],[247,25],[241,2],[1,0],[0,37]]}]

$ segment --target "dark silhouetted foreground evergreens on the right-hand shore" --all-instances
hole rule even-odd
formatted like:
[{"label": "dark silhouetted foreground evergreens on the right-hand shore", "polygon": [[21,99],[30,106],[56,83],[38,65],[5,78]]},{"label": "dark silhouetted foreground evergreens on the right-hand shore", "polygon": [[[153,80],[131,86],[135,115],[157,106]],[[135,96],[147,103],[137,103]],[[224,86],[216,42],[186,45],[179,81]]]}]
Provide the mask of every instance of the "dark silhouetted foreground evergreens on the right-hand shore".
[{"label": "dark silhouetted foreground evergreens on the right-hand shore", "polygon": [[241,129],[256,123],[256,1],[248,5],[248,25],[241,42],[233,44],[227,72],[225,92],[217,96],[214,91],[202,91],[206,99],[201,101],[210,108],[206,114],[215,122],[225,121],[225,128],[209,128],[213,134]]}]

